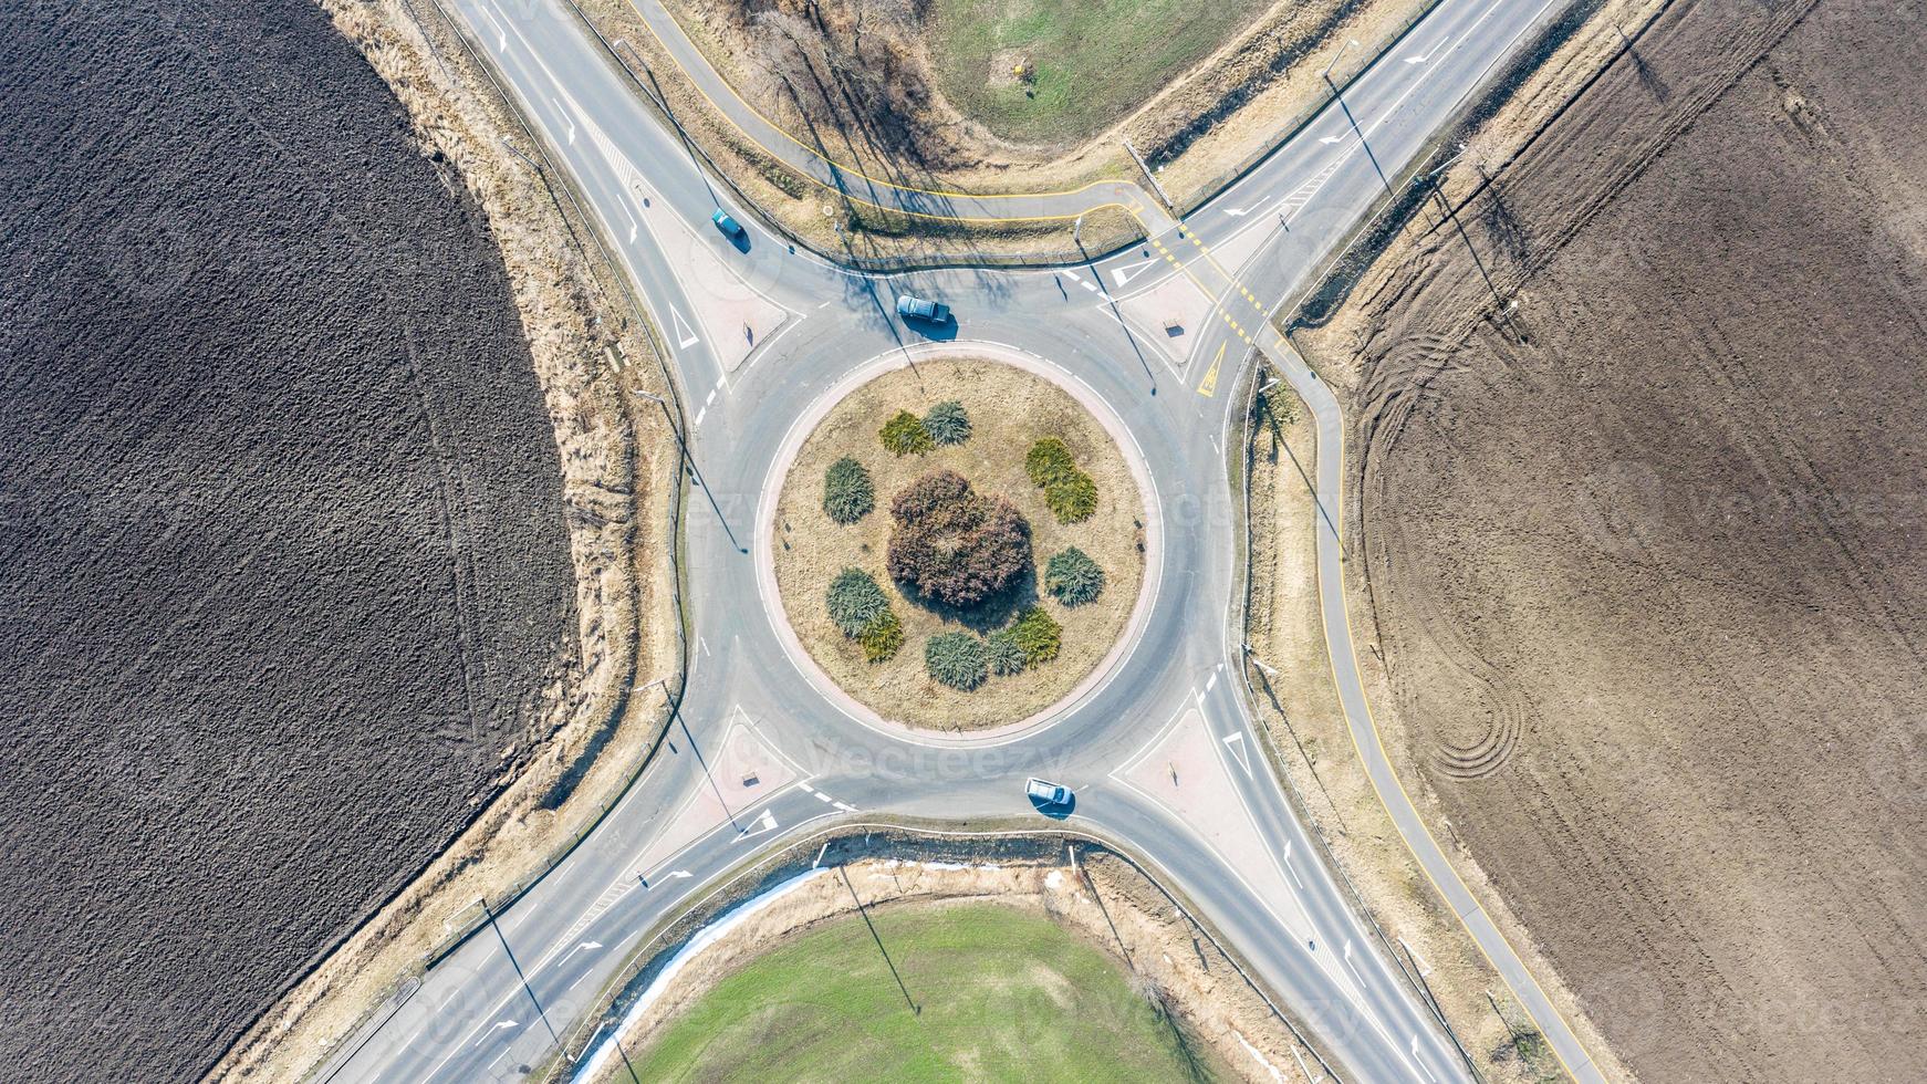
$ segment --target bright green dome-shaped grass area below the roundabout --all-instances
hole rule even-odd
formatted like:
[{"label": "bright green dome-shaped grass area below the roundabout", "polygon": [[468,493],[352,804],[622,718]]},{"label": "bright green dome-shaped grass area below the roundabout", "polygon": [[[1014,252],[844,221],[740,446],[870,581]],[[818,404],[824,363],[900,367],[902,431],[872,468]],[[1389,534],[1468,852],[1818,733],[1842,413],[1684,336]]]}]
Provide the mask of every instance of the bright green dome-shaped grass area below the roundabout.
[{"label": "bright green dome-shaped grass area below the roundabout", "polygon": [[869,922],[875,936],[852,915],[728,974],[632,1053],[636,1076],[1210,1078],[1118,963],[1048,918],[973,903],[871,911]]}]

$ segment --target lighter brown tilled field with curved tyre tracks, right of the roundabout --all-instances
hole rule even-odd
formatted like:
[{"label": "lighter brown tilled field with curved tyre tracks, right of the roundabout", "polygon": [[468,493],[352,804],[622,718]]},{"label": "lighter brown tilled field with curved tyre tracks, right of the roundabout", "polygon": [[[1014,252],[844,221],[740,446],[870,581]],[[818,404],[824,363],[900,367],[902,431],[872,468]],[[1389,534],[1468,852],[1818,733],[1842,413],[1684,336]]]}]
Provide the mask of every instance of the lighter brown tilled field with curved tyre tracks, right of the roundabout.
[{"label": "lighter brown tilled field with curved tyre tracks, right of the roundabout", "polygon": [[1382,720],[1648,1080],[1927,1045],[1923,15],[1675,0],[1305,337]]}]

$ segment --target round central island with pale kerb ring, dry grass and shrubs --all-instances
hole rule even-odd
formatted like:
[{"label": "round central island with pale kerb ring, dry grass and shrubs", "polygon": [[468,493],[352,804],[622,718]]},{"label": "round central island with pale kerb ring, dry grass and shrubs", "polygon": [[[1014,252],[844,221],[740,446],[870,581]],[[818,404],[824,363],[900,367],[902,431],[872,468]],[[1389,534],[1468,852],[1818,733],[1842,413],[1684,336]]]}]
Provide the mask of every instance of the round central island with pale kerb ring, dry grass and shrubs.
[{"label": "round central island with pale kerb ring, dry grass and shrubs", "polygon": [[983,745],[1064,718],[1129,657],[1164,528],[1143,451],[1089,385],[1025,350],[940,343],[877,356],[802,412],[753,553],[779,643],[831,705],[892,737]]}]

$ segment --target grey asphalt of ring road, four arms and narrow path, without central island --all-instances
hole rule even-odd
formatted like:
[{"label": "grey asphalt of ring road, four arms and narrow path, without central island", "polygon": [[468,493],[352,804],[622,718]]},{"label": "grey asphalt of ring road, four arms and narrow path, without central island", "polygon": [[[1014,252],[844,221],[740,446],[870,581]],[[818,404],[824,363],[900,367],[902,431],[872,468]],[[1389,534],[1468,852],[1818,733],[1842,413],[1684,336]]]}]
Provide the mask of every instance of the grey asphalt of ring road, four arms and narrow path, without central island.
[{"label": "grey asphalt of ring road, four arms and narrow path, without central island", "polygon": [[[1243,658],[1231,628],[1241,499],[1226,481],[1226,441],[1235,435],[1241,402],[1233,395],[1237,370],[1256,348],[1297,387],[1318,424],[1316,493],[1328,510],[1318,531],[1320,595],[1337,687],[1368,770],[1420,865],[1567,1071],[1597,1080],[1584,1047],[1453,874],[1384,759],[1343,612],[1337,402],[1266,320],[1386,193],[1387,177],[1412,164],[1430,133],[1559,4],[1443,0],[1283,148],[1179,225],[1152,193],[1118,183],[1037,198],[958,200],[838,177],[809,148],[759,129],[644,0],[644,15],[719,108],[771,152],[844,183],[856,198],[965,216],[1122,204],[1152,235],[1073,268],[867,275],[792,250],[732,204],[565,0],[453,0],[551,158],[572,173],[669,341],[707,489],[692,495],[686,516],[694,668],[671,734],[674,753],[651,766],[568,861],[432,968],[399,1011],[347,1036],[328,1078],[515,1080],[518,1067],[553,1057],[559,1036],[603,1009],[595,992],[651,926],[709,893],[744,857],[863,814],[1037,816],[1023,797],[1023,780],[1033,774],[1075,787],[1069,826],[1143,855],[1197,901],[1343,1074],[1468,1078],[1430,1011],[1347,909],[1262,757],[1253,764],[1239,755],[1258,739],[1241,699]],[[746,243],[711,227],[719,206],[748,225]],[[705,250],[698,262],[688,258],[692,245]],[[726,345],[750,335],[742,308],[719,304],[709,289],[717,264],[740,275],[765,306],[790,314],[746,358],[742,347]],[[1172,295],[1172,275],[1185,275],[1212,302],[1179,339],[1145,320],[1162,300],[1143,298]],[[948,302],[956,323],[906,325],[894,316],[898,293]],[[792,433],[854,370],[908,356],[929,339],[996,345],[1081,383],[1123,420],[1135,443],[1127,454],[1143,458],[1154,491],[1160,545],[1147,570],[1152,595],[1139,635],[1104,680],[1019,734],[917,736],[825,695],[809,662],[786,647],[775,599],[757,574],[780,481],[782,441],[775,435]],[[1235,832],[1251,847],[1227,845],[1222,824],[1197,822],[1195,811],[1210,795],[1158,799],[1127,782],[1129,766],[1177,726],[1204,728],[1220,751],[1222,770],[1191,782],[1222,787],[1220,799],[1226,789],[1235,797],[1247,814]],[[740,780],[717,778],[711,762],[740,741],[773,751],[796,782],[742,793]],[[726,809],[719,824],[694,838],[665,836],[711,799]]]}]

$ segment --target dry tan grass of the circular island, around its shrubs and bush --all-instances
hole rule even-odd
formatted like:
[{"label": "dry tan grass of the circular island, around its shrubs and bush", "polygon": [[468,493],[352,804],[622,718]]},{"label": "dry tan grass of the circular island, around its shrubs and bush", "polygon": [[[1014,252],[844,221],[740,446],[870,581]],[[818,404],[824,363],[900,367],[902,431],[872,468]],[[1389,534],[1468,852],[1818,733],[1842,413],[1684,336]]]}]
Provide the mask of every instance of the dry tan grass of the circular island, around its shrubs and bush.
[{"label": "dry tan grass of the circular island, around its shrubs and bush", "polygon": [[[877,429],[898,410],[923,414],[946,399],[969,410],[973,435],[923,456],[894,456]],[[1044,493],[1023,472],[1023,454],[1041,437],[1062,437],[1077,464],[1096,479],[1098,510],[1083,524],[1058,524]],[[823,472],[842,456],[869,468],[877,508],[848,528],[823,512]],[[1089,553],[1106,576],[1104,595],[1066,608],[1041,583],[1019,585],[1012,599],[979,614],[942,614],[906,599],[884,572],[890,497],[929,470],[950,468],[979,493],[1008,497],[1031,522],[1037,566],[1064,547]],[[942,358],[892,370],[838,402],[804,441],[777,504],[777,585],[790,626],[819,666],[852,697],[884,718],[937,730],[981,730],[1027,718],[1068,695],[1091,674],[1129,620],[1145,578],[1145,503],[1131,470],[1104,427],[1064,389],[1023,370],[981,358]],[[904,622],[896,658],[871,664],[861,647],[831,624],[823,605],[829,581],[846,566],[869,570]],[[1041,574],[1039,574],[1041,576]],[[923,645],[950,630],[979,633],[1039,601],[1064,626],[1064,653],[1012,678],[990,678],[964,693],[933,682]]]}]

